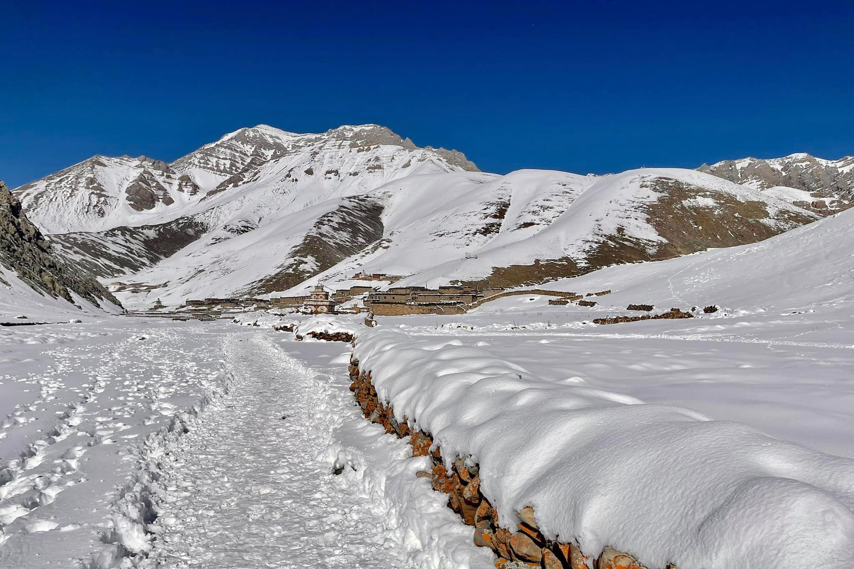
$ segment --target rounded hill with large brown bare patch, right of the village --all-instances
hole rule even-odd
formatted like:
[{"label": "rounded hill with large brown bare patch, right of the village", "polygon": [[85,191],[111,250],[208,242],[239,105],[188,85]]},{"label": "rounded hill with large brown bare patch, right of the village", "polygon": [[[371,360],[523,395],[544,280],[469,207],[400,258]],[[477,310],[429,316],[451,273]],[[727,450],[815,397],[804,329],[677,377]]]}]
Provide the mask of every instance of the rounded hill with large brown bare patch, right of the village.
[{"label": "rounded hill with large brown bare patch, right of the village", "polygon": [[815,219],[781,200],[693,171],[642,169],[582,180],[586,189],[551,223],[527,226],[526,218],[505,218],[499,235],[474,251],[477,259],[412,270],[404,284],[543,282],[611,264],[761,241]]}]

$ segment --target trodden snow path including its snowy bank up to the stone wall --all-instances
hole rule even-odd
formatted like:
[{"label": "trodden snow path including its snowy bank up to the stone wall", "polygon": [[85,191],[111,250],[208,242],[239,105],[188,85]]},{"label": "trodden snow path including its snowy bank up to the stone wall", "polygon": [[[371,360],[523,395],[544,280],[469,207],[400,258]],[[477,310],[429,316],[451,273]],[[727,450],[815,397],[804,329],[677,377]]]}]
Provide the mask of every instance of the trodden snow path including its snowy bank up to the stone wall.
[{"label": "trodden snow path including its snowy bank up to the stone wall", "polygon": [[317,351],[315,363],[333,351],[324,373],[273,338],[225,340],[231,392],[163,456],[166,493],[152,528],[161,539],[147,564],[491,567],[471,531],[415,476],[424,458],[409,458],[407,444],[356,412],[349,346],[288,342]]}]

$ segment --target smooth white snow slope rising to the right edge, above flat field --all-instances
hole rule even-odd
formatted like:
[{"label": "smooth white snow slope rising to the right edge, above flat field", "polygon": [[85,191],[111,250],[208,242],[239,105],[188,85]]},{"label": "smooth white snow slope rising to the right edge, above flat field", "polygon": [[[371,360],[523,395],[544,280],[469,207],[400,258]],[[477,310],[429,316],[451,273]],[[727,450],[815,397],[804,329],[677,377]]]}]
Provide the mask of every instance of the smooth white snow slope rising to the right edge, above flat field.
[{"label": "smooth white snow slope rising to the right edge, above flat field", "polygon": [[854,307],[854,211],[766,241],[660,263],[629,264],[547,285],[604,290],[606,305],[721,305],[732,310]]}]

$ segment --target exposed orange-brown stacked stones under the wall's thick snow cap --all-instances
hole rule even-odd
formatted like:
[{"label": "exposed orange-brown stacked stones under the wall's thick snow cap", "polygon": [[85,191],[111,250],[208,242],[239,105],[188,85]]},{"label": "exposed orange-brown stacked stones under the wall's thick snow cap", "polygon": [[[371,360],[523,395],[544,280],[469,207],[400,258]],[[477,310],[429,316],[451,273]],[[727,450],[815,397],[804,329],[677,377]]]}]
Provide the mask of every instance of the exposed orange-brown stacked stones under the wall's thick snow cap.
[{"label": "exposed orange-brown stacked stones under the wall's thick snow cap", "polygon": [[[545,569],[646,569],[631,555],[610,547],[596,552],[598,555],[593,558],[585,554],[590,552],[582,552],[576,543],[547,539],[530,507],[513,513],[520,520],[517,527],[500,526],[498,512],[480,489],[478,465],[466,464],[459,456],[453,456],[453,460],[447,462],[453,466],[447,468],[442,450],[433,444],[430,433],[412,431],[406,417],[396,421],[390,405],[379,400],[370,370],[360,370],[359,361],[352,359],[349,374],[350,391],[354,392],[366,419],[381,425],[386,433],[407,438],[412,456],[430,456],[432,469],[419,476],[429,478],[434,490],[448,495],[448,507],[459,514],[465,524],[474,527],[472,539],[476,545],[493,550],[496,566],[517,562]],[[676,568],[669,565],[667,569]]]}]

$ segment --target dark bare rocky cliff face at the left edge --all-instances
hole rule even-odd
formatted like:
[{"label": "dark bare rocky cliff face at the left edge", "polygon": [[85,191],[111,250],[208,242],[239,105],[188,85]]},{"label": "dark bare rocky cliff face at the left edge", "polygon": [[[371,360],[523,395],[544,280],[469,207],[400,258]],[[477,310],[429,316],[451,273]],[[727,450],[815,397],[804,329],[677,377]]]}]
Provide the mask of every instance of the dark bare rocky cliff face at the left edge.
[{"label": "dark bare rocky cliff face at the left edge", "polygon": [[0,262],[20,280],[50,296],[74,304],[72,293],[100,305],[119,301],[94,277],[63,264],[50,243],[21,211],[20,201],[0,182]]}]

